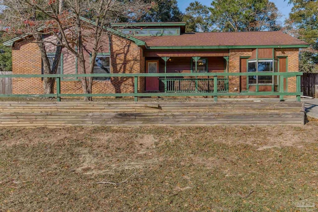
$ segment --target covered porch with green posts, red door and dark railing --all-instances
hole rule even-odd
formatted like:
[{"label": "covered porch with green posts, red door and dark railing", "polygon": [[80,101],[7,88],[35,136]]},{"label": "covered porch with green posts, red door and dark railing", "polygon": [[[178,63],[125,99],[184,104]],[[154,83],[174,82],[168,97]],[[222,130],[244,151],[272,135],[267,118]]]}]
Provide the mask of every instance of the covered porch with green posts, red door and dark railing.
[{"label": "covered porch with green posts, red door and dark railing", "polygon": [[[226,73],[229,67],[229,52],[146,52],[146,73]],[[228,92],[229,78],[226,75],[210,76],[164,76],[146,77],[146,92],[208,93]]]}]

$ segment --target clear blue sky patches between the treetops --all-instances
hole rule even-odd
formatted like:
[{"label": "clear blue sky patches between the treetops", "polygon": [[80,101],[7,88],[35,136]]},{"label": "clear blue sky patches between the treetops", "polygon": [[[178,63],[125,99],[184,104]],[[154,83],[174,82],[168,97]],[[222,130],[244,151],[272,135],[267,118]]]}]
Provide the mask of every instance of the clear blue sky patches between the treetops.
[{"label": "clear blue sky patches between the treetops", "polygon": [[[189,6],[191,2],[194,0],[177,0],[178,6],[182,12],[184,12],[185,8]],[[206,4],[208,6],[211,5],[212,0],[198,0],[202,4]],[[283,22],[289,15],[292,5],[288,5],[288,1],[284,0],[270,0],[274,2],[278,8],[278,10],[282,13],[283,17],[281,18],[281,21]]]}]

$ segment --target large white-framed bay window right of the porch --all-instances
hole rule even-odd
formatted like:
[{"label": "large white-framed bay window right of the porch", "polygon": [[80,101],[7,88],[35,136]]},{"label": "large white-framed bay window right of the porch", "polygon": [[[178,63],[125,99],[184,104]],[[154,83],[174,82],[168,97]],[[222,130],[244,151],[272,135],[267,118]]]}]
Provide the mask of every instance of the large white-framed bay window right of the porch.
[{"label": "large white-framed bay window right of the porch", "polygon": [[[275,65],[275,68],[274,68]],[[277,60],[251,60],[248,61],[248,72],[277,72]],[[276,77],[275,77],[276,79]],[[275,80],[276,81],[276,80]],[[273,76],[248,76],[248,84],[273,84]]]}]

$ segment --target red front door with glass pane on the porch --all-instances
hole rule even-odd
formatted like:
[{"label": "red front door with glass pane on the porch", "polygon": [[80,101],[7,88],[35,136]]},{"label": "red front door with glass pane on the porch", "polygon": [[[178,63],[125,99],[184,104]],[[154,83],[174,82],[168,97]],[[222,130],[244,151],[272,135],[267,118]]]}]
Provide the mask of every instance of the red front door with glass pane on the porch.
[{"label": "red front door with glass pane on the porch", "polygon": [[[158,73],[159,61],[146,61],[146,73]],[[146,77],[146,91],[159,91],[159,77]]]}]

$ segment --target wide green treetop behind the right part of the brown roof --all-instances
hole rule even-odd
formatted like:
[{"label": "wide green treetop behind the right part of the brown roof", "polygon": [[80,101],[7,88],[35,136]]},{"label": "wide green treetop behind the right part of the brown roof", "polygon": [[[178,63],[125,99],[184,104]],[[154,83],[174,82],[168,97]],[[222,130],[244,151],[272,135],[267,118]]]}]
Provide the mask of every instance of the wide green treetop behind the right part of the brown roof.
[{"label": "wide green treetop behind the right part of the brown roof", "polygon": [[269,0],[214,0],[211,19],[219,31],[279,30],[279,12]]}]

